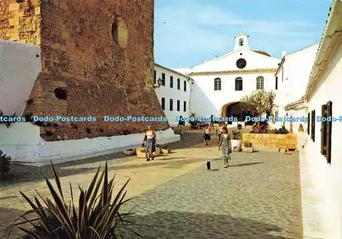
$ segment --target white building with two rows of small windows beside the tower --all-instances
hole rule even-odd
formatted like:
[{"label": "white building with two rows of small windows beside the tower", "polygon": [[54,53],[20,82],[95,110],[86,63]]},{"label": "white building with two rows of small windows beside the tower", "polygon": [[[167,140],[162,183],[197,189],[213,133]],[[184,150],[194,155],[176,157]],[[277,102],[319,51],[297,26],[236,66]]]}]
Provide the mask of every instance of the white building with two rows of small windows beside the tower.
[{"label": "white building with two rows of small windows beside the tower", "polygon": [[170,126],[177,126],[177,117],[189,117],[193,80],[186,74],[176,72],[159,64],[155,64],[154,83],[162,80],[160,87],[155,87],[155,93]]}]

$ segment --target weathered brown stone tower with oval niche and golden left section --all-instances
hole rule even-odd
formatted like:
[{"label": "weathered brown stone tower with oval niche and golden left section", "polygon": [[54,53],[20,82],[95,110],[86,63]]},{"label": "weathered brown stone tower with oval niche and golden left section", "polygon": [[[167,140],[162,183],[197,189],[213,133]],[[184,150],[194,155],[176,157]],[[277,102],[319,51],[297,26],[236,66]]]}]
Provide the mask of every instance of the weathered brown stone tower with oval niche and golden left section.
[{"label": "weathered brown stone tower with oval niche and golden left section", "polygon": [[42,72],[25,113],[98,120],[42,126],[44,139],[127,135],[148,124],[103,115],[165,116],[153,89],[153,14],[153,0],[0,1],[0,39],[40,46]]}]

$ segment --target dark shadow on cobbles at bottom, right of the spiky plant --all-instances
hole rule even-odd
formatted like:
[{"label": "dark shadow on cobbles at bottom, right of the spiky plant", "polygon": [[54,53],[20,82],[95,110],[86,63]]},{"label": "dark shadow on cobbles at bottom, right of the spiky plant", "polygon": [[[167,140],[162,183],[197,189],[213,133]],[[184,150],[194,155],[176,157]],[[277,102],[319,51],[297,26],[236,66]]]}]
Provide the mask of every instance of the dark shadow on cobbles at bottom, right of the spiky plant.
[{"label": "dark shadow on cobbles at bottom, right of the spiky plant", "polygon": [[[220,214],[200,214],[191,212],[154,212],[144,216],[130,216],[127,220],[135,223],[129,229],[148,239],[262,239],[286,238],[281,229],[252,219]],[[120,229],[121,238],[140,238],[129,230]]]}]

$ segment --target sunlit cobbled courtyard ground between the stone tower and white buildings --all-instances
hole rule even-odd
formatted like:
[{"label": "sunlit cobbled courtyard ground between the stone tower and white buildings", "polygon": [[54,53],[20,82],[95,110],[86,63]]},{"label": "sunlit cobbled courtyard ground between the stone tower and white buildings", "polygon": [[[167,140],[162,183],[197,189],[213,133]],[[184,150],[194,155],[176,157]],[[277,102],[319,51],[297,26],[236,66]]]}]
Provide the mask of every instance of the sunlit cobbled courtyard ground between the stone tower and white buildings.
[{"label": "sunlit cobbled courtyard ground between the stone tower and white buildings", "polygon": [[[233,153],[231,167],[224,168],[218,137],[202,143],[202,131],[185,132],[181,141],[169,144],[172,153],[146,162],[136,156],[113,154],[56,165],[62,188],[75,192],[78,184],[90,184],[98,165],[108,162],[116,173],[116,191],[127,179],[127,197],[135,197],[131,229],[145,238],[302,238],[300,167],[298,154],[260,151]],[[207,171],[207,160],[211,170]],[[44,178],[50,167],[12,165],[12,176],[0,185],[0,238],[5,228],[29,206],[34,188],[49,196]],[[70,195],[66,195],[70,197]],[[124,238],[139,238],[120,231]],[[14,230],[10,238],[21,233]]]}]

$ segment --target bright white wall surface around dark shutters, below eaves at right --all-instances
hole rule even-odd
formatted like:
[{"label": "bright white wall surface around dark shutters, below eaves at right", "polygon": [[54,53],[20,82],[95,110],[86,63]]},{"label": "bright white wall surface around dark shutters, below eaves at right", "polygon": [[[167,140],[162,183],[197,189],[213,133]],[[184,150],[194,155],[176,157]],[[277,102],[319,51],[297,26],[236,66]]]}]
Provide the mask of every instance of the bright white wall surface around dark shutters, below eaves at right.
[{"label": "bright white wall surface around dark shutters, below eaves at right", "polygon": [[[321,77],[313,98],[308,101],[308,111],[315,109],[321,115],[321,105],[332,101],[332,115],[342,115],[341,76],[342,76],[342,38],[330,59],[326,72]],[[331,165],[320,154],[321,122],[315,124],[315,142],[310,137],[306,148],[308,176],[311,177],[315,201],[321,216],[324,238],[342,238],[342,123],[332,122]]]}]

